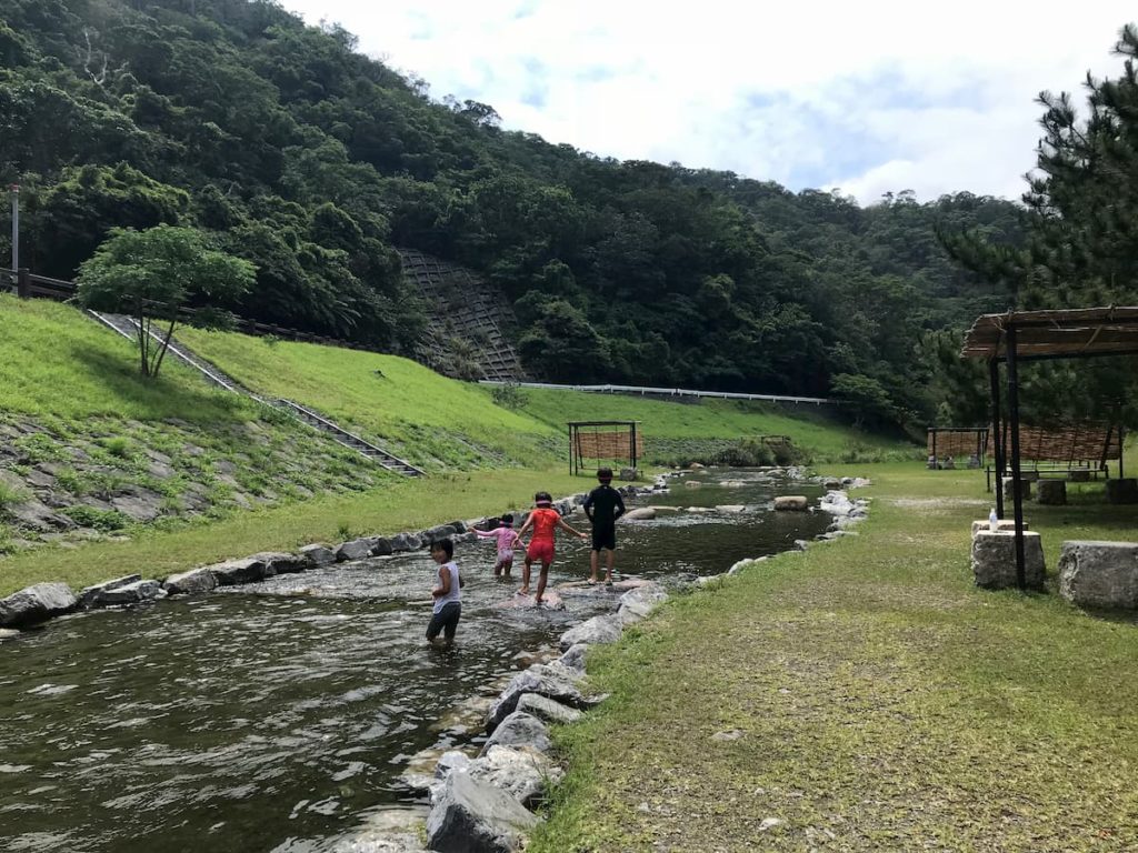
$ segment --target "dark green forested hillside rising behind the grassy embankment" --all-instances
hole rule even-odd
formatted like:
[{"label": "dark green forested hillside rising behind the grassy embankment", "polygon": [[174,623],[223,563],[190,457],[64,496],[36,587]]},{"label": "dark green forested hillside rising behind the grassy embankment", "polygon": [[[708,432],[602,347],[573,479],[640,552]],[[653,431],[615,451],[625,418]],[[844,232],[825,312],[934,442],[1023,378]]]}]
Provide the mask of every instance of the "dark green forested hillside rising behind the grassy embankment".
[{"label": "dark green forested hillside rising behind the grassy embankment", "polygon": [[504,132],[269,2],[0,0],[0,180],[24,188],[36,272],[71,276],[115,225],[196,226],[257,266],[221,307],[396,353],[427,316],[395,251],[413,247],[502,289],[535,376],[923,419],[922,339],[1007,303],[935,229],[1021,240],[991,198],[861,208]]}]

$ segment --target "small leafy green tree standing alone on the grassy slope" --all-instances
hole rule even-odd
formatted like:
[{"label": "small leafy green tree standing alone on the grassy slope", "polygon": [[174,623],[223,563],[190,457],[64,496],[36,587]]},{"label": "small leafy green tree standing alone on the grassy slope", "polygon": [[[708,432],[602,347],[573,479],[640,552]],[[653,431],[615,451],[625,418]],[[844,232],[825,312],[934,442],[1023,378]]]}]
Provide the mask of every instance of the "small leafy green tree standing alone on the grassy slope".
[{"label": "small leafy green tree standing alone on the grassy slope", "polygon": [[[195,229],[113,229],[80,267],[79,298],[86,308],[134,317],[139,368],[145,376],[157,376],[187,303],[192,298],[206,306],[187,322],[224,326],[230,315],[214,306],[247,291],[255,273],[248,260],[211,249]],[[155,323],[159,331],[151,334]]]}]

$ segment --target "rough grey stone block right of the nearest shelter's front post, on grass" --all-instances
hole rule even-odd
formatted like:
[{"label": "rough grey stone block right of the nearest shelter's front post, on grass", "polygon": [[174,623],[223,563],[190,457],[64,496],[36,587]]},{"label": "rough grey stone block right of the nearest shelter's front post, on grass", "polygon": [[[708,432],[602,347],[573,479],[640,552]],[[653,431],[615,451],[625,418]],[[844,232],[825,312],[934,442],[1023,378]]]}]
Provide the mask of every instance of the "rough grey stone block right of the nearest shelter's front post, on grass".
[{"label": "rough grey stone block right of the nearest shelter's front post, on grass", "polygon": [[1138,543],[1065,541],[1058,571],[1059,595],[1072,604],[1138,610]]}]

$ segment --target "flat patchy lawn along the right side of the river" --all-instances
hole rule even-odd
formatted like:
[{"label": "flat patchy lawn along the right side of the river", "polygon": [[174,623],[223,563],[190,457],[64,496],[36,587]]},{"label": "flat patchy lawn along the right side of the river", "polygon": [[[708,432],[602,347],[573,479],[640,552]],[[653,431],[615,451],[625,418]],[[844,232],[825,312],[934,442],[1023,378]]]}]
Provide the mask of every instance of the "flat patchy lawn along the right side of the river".
[{"label": "flat patchy lawn along the right side of the river", "polygon": [[[613,695],[560,732],[571,772],[530,850],[1138,847],[1138,626],[975,589],[975,473],[873,474],[858,538],[591,655]],[[1063,539],[1133,538],[1138,508],[1075,497],[1030,505],[1053,570]]]}]

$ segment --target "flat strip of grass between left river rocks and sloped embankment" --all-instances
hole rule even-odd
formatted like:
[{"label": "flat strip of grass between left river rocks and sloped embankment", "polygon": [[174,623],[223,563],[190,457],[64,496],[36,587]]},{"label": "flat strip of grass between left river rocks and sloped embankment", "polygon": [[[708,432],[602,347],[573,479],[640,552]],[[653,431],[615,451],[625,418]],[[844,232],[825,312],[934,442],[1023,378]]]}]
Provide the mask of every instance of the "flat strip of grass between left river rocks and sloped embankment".
[{"label": "flat strip of grass between left river rocks and sloped embankment", "polygon": [[563,471],[486,471],[401,480],[382,490],[253,510],[181,530],[143,532],[130,541],[17,554],[0,560],[0,596],[44,580],[80,588],[126,572],[162,578],[258,550],[291,550],[314,541],[419,530],[529,507],[537,490],[568,495],[589,485]]}]

